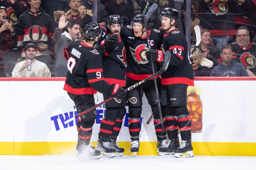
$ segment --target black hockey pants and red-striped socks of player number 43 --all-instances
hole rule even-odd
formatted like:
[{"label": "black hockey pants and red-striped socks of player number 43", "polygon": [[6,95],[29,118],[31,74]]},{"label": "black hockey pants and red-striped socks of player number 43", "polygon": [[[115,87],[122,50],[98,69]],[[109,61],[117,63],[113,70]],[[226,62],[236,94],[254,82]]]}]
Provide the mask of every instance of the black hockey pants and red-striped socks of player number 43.
[{"label": "black hockey pants and red-striped socks of player number 43", "polygon": [[169,139],[191,139],[191,120],[187,108],[187,87],[185,84],[162,85],[161,104]]}]

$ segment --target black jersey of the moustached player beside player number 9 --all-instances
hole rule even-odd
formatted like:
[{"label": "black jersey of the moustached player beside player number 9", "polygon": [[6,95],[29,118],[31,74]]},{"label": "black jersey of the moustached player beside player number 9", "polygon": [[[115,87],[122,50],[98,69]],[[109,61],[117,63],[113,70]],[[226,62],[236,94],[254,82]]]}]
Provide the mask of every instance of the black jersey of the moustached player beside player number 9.
[{"label": "black jersey of the moustached player beside player number 9", "polygon": [[[105,36],[104,39],[100,42],[101,45],[105,43],[105,39],[108,36],[110,35],[107,34],[107,36]],[[110,85],[117,83],[121,87],[124,87],[125,71],[127,67],[124,41],[121,39],[121,37],[119,37],[116,43],[104,52],[105,53],[102,57],[104,80]]]}]

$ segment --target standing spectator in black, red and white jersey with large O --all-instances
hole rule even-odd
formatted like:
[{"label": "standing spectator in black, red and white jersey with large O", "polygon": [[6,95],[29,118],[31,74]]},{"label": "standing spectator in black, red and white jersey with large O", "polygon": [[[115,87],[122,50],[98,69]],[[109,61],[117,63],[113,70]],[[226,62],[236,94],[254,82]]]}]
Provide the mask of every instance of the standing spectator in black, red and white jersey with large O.
[{"label": "standing spectator in black, red and white jersey with large O", "polygon": [[[31,8],[25,11],[19,19],[17,35],[18,49],[21,51],[21,57],[25,59],[24,47],[30,42],[36,43],[38,50],[36,60],[45,63],[52,71],[53,59],[49,52],[52,45],[54,22],[49,14],[40,7],[40,0],[28,0]],[[21,58],[18,58],[18,62]]]}]

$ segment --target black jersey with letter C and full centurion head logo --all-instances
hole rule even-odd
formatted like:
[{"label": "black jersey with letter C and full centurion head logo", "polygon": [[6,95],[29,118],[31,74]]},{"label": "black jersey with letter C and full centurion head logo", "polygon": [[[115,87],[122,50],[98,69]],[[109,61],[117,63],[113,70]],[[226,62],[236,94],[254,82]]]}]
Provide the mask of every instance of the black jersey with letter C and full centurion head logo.
[{"label": "black jersey with letter C and full centurion head logo", "polygon": [[[148,31],[152,49],[160,49],[162,35],[159,30]],[[135,37],[132,26],[124,26],[120,33],[124,40],[127,70],[126,77],[133,80],[144,80],[153,74],[151,63],[147,60],[148,40],[145,37]],[[159,64],[154,63],[155,72],[159,70]],[[158,76],[157,76],[158,77]],[[152,78],[153,79],[153,78]]]}]

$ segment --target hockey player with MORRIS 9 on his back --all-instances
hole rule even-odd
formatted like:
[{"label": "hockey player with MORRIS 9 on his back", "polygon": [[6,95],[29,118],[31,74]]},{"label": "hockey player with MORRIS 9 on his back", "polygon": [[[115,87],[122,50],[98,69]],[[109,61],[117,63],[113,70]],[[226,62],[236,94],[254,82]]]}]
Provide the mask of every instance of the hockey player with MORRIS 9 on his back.
[{"label": "hockey player with MORRIS 9 on his back", "polygon": [[[98,24],[89,23],[84,28],[84,41],[73,41],[64,48],[64,58],[68,60],[68,73],[63,89],[74,101],[78,113],[95,106],[93,94],[97,91],[115,95],[117,99],[126,96],[126,92],[120,85],[110,85],[104,81],[101,56],[93,48],[100,33]],[[104,46],[110,47],[115,40],[116,37],[108,38]],[[76,150],[81,158],[84,158],[84,155],[89,155],[92,159],[100,158],[100,151],[89,145],[95,119],[96,109],[80,116],[77,122],[78,143]]]}]

